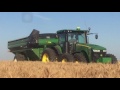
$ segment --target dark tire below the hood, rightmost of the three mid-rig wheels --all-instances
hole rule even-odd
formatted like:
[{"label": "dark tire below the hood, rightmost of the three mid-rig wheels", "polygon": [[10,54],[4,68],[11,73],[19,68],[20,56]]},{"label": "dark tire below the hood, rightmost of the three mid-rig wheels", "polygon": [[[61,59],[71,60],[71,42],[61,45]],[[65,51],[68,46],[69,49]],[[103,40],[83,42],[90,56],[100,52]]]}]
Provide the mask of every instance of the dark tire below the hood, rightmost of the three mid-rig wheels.
[{"label": "dark tire below the hood, rightmost of the three mid-rig wheels", "polygon": [[84,63],[88,62],[87,58],[82,52],[74,54],[74,58],[75,58],[75,61],[78,61],[78,62],[84,62]]}]

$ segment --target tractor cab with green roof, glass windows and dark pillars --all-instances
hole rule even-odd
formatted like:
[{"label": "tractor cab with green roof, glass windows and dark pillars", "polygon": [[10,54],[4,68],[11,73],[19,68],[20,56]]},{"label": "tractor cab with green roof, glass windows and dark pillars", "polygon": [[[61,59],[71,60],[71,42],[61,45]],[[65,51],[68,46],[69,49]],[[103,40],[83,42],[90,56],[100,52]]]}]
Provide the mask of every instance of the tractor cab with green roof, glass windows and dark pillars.
[{"label": "tractor cab with green roof, glass windows and dark pillars", "polygon": [[[64,53],[72,53],[75,50],[75,46],[77,43],[86,44],[88,30],[80,30],[77,28],[73,29],[64,29],[58,30],[57,35],[59,37],[59,44]],[[72,50],[71,50],[72,49]]]}]

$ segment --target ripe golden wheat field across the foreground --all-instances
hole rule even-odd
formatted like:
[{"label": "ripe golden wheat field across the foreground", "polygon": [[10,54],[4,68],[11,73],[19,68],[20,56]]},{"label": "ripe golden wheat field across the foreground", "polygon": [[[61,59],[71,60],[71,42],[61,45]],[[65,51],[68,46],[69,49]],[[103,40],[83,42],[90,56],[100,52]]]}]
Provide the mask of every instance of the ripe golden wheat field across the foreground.
[{"label": "ripe golden wheat field across the foreground", "polygon": [[119,78],[120,63],[0,61],[0,78]]}]

